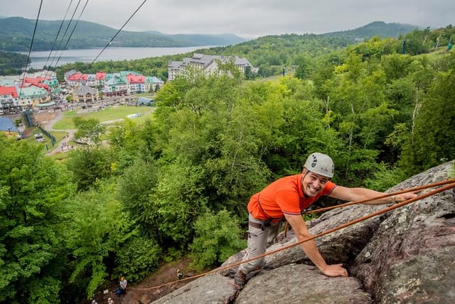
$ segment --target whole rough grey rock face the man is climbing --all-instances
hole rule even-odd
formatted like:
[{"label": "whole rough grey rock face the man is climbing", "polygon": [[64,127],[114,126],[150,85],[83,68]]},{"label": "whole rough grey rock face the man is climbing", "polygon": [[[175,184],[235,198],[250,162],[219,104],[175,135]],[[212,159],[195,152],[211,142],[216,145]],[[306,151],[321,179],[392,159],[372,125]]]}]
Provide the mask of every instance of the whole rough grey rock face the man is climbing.
[{"label": "whole rough grey rock face the man is climbing", "polygon": [[[441,164],[389,192],[449,179],[453,168],[453,162]],[[333,209],[307,224],[316,235],[385,207]],[[278,239],[268,252],[296,243],[292,231]],[[348,268],[348,278],[323,276],[294,246],[267,256],[262,271],[240,291],[233,285],[235,267],[199,278],[154,303],[455,303],[454,189],[315,241],[327,263]],[[223,266],[241,261],[244,254]]]}]

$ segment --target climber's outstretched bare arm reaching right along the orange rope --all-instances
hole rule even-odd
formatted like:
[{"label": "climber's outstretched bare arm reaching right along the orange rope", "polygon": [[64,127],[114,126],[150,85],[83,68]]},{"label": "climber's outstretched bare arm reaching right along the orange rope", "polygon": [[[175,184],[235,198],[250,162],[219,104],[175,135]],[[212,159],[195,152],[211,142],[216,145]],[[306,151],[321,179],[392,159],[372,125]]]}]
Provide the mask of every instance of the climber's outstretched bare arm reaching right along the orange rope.
[{"label": "climber's outstretched bare arm reaching right along the orange rope", "polygon": [[[385,194],[384,192],[377,192],[366,188],[348,188],[337,186],[328,196],[331,196],[335,199],[342,199],[343,201],[361,201],[364,199],[373,199],[384,194]],[[387,196],[382,199],[375,199],[374,201],[368,201],[364,204],[367,205],[395,204],[399,203],[400,201],[407,201],[408,199],[412,199],[416,196],[417,192],[407,192],[397,194],[394,196]]]}]

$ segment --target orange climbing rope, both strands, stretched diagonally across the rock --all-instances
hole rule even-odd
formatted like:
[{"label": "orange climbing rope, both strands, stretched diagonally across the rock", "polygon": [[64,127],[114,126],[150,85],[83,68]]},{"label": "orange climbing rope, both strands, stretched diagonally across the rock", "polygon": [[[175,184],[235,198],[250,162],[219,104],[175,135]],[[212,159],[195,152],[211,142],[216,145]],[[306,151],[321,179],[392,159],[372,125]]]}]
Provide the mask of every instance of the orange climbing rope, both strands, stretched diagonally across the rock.
[{"label": "orange climbing rope, both strands, stretched diagonally across the rock", "polygon": [[432,190],[432,191],[427,192],[425,194],[420,194],[419,196],[414,197],[413,199],[408,199],[407,201],[402,201],[400,203],[394,204],[393,206],[389,206],[389,207],[387,207],[385,209],[381,209],[379,211],[375,211],[375,212],[373,212],[371,214],[362,216],[362,217],[360,217],[358,219],[355,219],[353,221],[349,221],[349,222],[347,222],[345,224],[342,224],[340,226],[337,226],[337,227],[335,227],[333,229],[329,229],[327,231],[321,232],[321,234],[316,234],[314,236],[311,236],[311,238],[304,239],[303,241],[298,241],[296,243],[292,243],[291,245],[284,246],[284,247],[279,248],[279,249],[274,250],[274,251],[269,251],[269,252],[264,253],[264,254],[262,254],[260,256],[255,256],[254,258],[250,258],[248,260],[240,261],[240,262],[237,262],[237,263],[232,263],[232,264],[230,264],[228,266],[215,268],[212,271],[208,271],[206,273],[200,273],[200,274],[198,274],[196,276],[191,276],[191,277],[188,277],[188,278],[182,278],[181,280],[178,280],[178,281],[172,281],[172,282],[164,283],[164,284],[161,284],[161,285],[152,286],[152,287],[149,287],[149,288],[129,288],[129,289],[134,289],[134,290],[153,290],[153,289],[158,289],[158,288],[162,288],[162,287],[164,287],[166,285],[173,285],[173,284],[178,283],[178,282],[193,280],[195,278],[201,278],[203,276],[207,276],[210,273],[216,273],[218,271],[223,271],[225,269],[229,269],[229,268],[232,268],[232,267],[235,267],[235,266],[240,266],[240,264],[242,264],[242,263],[248,263],[248,262],[256,260],[258,258],[263,258],[264,256],[269,256],[269,255],[272,255],[272,254],[277,253],[279,251],[287,250],[287,249],[289,249],[291,247],[300,245],[301,243],[305,243],[307,241],[311,241],[311,240],[317,239],[317,238],[319,238],[321,236],[325,236],[326,234],[331,234],[334,231],[338,231],[340,229],[346,228],[346,227],[351,226],[353,224],[357,224],[360,221],[365,221],[365,220],[370,219],[370,218],[372,218],[374,216],[378,216],[380,214],[385,214],[388,211],[400,208],[401,206],[405,206],[405,205],[410,204],[410,203],[412,203],[414,201],[418,201],[418,200],[424,199],[424,198],[426,198],[428,196],[432,196],[434,194],[438,194],[440,192],[444,192],[446,190],[452,189],[452,188],[455,187],[455,179],[449,179],[449,180],[446,180],[446,181],[443,181],[443,182],[437,182],[437,183],[434,183],[434,184],[427,184],[427,185],[421,186],[421,187],[414,187],[414,188],[405,189],[405,190],[402,190],[402,191],[399,191],[399,192],[393,192],[393,193],[389,193],[389,194],[384,194],[384,195],[381,195],[381,196],[377,196],[377,197],[375,197],[373,199],[365,199],[365,200],[362,200],[362,201],[350,201],[349,203],[340,204],[338,206],[331,206],[331,207],[322,208],[322,209],[318,209],[318,210],[308,211],[308,213],[313,213],[313,212],[316,212],[316,211],[326,211],[326,210],[330,210],[330,209],[335,209],[335,208],[339,208],[341,206],[350,206],[350,205],[353,205],[353,204],[363,204],[365,202],[374,201],[375,199],[382,199],[382,198],[387,197],[387,196],[392,196],[392,195],[397,195],[397,194],[402,194],[402,193],[407,193],[407,192],[415,192],[415,191],[419,191],[419,190],[422,190],[422,189],[428,189],[428,188],[432,188],[432,187],[441,186],[441,185],[444,185],[444,184],[446,184],[446,186],[441,187],[439,189]]}]

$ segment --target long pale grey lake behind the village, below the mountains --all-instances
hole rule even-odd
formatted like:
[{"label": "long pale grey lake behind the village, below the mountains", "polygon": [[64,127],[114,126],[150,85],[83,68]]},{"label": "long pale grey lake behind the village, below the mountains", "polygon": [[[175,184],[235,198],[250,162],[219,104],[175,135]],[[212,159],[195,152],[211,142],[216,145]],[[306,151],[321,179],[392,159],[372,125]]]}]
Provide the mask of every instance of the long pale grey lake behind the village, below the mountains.
[{"label": "long pale grey lake behind the village, below the mountains", "polygon": [[[66,63],[85,62],[91,63],[97,58],[97,61],[122,61],[148,57],[159,57],[165,55],[176,55],[193,52],[204,48],[214,48],[215,46],[188,46],[182,48],[90,48],[80,50],[53,51],[52,56],[48,59],[50,51],[31,52],[31,63],[28,68],[41,69],[44,65],[64,65]],[[23,53],[23,52],[21,52]],[[28,53],[23,53],[28,54]],[[58,59],[60,57],[60,60]]]}]

